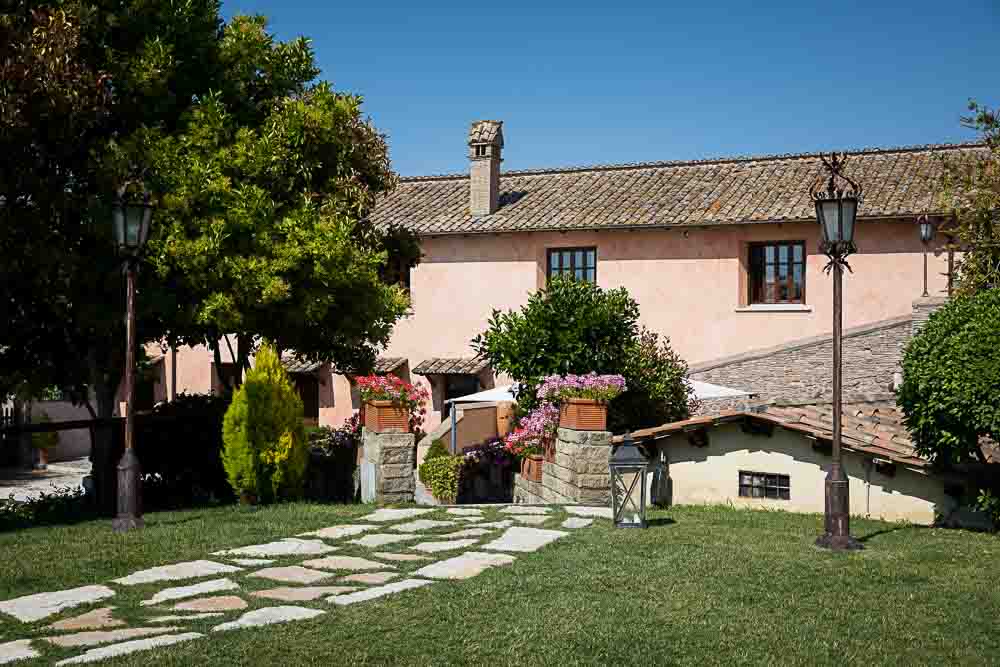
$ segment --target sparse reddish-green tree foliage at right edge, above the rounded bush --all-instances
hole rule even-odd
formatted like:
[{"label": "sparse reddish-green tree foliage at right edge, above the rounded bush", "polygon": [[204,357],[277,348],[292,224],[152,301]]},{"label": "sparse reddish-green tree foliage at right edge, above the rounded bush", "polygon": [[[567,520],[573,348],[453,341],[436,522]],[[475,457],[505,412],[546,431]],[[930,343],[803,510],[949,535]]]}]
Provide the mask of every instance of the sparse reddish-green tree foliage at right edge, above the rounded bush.
[{"label": "sparse reddish-green tree foliage at right edge, above the rounded bush", "polygon": [[1000,287],[1000,113],[974,101],[969,111],[962,124],[980,133],[986,150],[950,156],[941,195],[948,247],[961,253],[955,291],[966,295]]}]

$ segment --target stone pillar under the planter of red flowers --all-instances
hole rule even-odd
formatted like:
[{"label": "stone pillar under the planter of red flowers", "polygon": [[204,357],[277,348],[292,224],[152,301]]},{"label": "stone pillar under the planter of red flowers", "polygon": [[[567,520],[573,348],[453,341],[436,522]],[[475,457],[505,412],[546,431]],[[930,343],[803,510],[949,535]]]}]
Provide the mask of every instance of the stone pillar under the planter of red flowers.
[{"label": "stone pillar under the planter of red flowers", "polygon": [[416,443],[412,433],[364,430],[361,500],[380,505],[413,502]]}]

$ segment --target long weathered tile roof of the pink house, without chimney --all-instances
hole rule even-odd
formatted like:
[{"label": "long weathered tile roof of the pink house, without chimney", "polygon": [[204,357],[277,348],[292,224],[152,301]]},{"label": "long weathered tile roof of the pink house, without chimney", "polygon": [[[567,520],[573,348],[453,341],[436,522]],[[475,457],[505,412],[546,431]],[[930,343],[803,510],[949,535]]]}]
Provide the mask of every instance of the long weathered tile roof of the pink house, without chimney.
[{"label": "long weathered tile roof of the pink house, without chimney", "polygon": [[[982,150],[849,152],[846,171],[865,188],[861,217],[935,212],[941,158]],[[500,208],[478,218],[469,212],[467,174],[419,176],[402,179],[372,219],[424,235],[812,221],[808,190],[821,173],[815,153],[508,171]]]}]

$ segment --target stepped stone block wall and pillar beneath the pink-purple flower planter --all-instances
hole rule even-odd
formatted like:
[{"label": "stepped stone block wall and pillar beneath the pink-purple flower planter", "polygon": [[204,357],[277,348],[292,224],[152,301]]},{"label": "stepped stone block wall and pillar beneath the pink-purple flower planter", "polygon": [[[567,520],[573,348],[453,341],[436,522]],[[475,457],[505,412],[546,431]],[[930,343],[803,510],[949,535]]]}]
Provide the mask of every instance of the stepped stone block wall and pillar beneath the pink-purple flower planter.
[{"label": "stepped stone block wall and pillar beneath the pink-purple flower planter", "polygon": [[608,458],[611,433],[561,428],[554,462],[542,464],[542,481],[514,476],[514,502],[607,505],[611,500]]}]

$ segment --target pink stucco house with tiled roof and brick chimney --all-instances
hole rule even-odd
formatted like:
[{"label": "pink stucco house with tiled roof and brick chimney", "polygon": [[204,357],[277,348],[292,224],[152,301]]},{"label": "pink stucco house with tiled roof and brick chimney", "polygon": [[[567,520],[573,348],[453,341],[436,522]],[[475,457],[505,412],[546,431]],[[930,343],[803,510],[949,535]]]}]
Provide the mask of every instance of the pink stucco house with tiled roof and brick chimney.
[{"label": "pink stucco house with tiled roof and brick chimney", "polygon": [[[693,376],[710,381],[720,368],[767,364],[775,353],[828,339],[831,287],[808,196],[821,173],[818,154],[504,172],[503,152],[516,144],[505,146],[498,121],[473,123],[468,147],[468,173],[404,178],[373,213],[422,241],[423,260],[407,280],[412,314],[397,325],[377,370],[431,389],[429,427],[447,398],[497,381],[470,347],[491,311],[519,307],[557,273],[626,287],[644,323],[670,337]],[[885,327],[908,329],[923,291],[917,217],[937,210],[941,158],[976,150],[850,152],[847,170],[866,196],[845,281],[848,348],[852,335],[864,348],[872,332],[884,338]],[[947,258],[931,250],[929,292],[940,296]],[[212,363],[207,349],[168,353],[157,397],[211,391]],[[307,416],[339,424],[358,408],[350,379],[330,365],[290,365]],[[872,374],[871,367],[859,361],[854,385],[848,368],[847,390],[885,389],[892,369]],[[773,389],[788,377],[794,388],[798,375],[784,361],[773,372],[758,364],[724,384],[756,390],[766,379]]]}]

